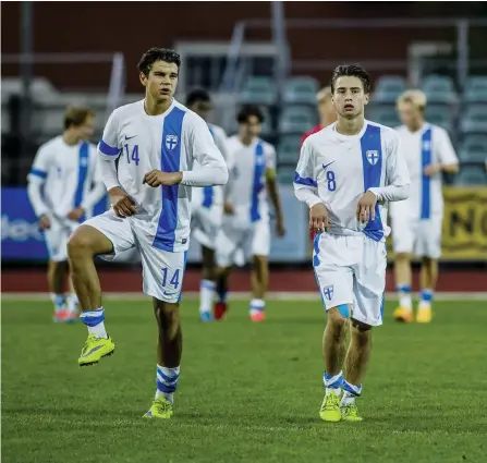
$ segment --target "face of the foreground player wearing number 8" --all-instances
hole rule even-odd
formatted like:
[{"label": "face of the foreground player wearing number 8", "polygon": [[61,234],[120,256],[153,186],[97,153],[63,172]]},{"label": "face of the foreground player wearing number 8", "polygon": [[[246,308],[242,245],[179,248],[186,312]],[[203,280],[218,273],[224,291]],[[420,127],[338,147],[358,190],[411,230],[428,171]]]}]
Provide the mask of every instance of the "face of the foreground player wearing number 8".
[{"label": "face of the foreground player wearing number 8", "polygon": [[364,93],[364,85],[358,77],[343,75],[334,83],[332,97],[338,114],[345,119],[354,119],[364,112],[368,102],[368,94]]}]

